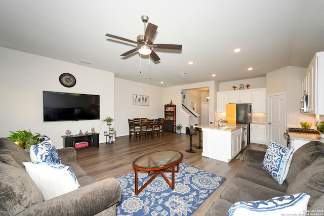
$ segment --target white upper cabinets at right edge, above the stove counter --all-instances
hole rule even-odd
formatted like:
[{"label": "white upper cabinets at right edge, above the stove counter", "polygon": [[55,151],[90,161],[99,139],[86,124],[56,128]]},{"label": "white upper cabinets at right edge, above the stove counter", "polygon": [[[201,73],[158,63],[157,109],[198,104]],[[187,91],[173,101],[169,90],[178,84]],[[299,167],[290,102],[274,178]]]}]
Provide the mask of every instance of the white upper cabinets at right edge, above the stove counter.
[{"label": "white upper cabinets at right edge, above the stove counter", "polygon": [[[301,79],[301,111],[324,114],[324,52],[316,53]],[[304,97],[307,96],[307,97]],[[306,102],[303,100],[307,100]],[[304,109],[304,107],[306,108]]]}]

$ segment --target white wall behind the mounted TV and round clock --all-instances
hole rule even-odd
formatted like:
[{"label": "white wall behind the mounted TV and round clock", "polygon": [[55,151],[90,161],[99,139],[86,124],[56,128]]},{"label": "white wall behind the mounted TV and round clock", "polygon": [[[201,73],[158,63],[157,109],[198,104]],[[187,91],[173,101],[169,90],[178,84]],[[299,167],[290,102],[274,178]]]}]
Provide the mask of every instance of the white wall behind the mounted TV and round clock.
[{"label": "white wall behind the mounted TV and round clock", "polygon": [[[42,56],[0,47],[0,137],[9,131],[28,130],[50,137],[56,148],[63,148],[66,129],[100,133],[99,120],[43,122],[43,91],[100,95],[100,119],[114,118],[114,73],[71,64]],[[76,85],[65,88],[59,82],[62,73],[71,73]]]}]

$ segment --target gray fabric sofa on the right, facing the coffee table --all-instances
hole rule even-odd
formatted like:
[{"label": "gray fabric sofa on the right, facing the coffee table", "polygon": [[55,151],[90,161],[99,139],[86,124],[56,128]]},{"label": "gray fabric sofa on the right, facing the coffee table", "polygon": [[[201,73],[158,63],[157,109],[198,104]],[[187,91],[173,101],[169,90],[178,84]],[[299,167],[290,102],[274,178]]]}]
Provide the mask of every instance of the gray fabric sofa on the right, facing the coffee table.
[{"label": "gray fabric sofa on the right, facing the coffee table", "polygon": [[[324,210],[324,144],[311,141],[293,155],[288,176],[279,185],[262,168],[265,151],[246,149],[244,164],[206,215],[226,215],[238,201],[268,200],[297,193],[310,195],[308,210]],[[319,212],[324,215],[323,212]],[[310,214],[308,214],[310,215]]]}]

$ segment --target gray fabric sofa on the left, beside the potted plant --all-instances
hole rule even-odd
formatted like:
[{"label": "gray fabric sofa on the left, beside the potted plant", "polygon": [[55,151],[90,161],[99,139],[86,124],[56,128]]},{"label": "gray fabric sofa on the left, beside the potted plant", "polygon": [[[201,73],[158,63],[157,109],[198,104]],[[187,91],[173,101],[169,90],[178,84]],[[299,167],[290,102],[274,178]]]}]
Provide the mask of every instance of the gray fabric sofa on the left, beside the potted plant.
[{"label": "gray fabric sofa on the left, beside the potted plant", "polygon": [[116,215],[121,198],[117,180],[96,182],[77,164],[74,148],[57,151],[81,187],[43,201],[42,192],[22,163],[30,161],[29,154],[8,138],[0,139],[0,215]]}]

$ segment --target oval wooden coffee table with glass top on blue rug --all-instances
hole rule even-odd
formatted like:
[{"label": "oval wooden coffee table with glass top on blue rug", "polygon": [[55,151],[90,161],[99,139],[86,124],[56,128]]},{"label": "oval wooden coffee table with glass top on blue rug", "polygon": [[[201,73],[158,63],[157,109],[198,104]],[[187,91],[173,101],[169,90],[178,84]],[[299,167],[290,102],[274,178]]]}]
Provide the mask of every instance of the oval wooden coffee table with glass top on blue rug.
[{"label": "oval wooden coffee table with glass top on blue rug", "polygon": [[[179,171],[179,162],[183,154],[178,151],[158,151],[142,155],[133,161],[135,172],[135,194],[139,194],[150,182],[159,174],[174,189],[174,173]],[[177,169],[175,169],[175,166]],[[168,169],[168,168],[171,168]],[[138,170],[148,171],[148,175],[153,175],[140,189],[138,189]],[[166,177],[164,172],[172,172],[172,183]]]}]

